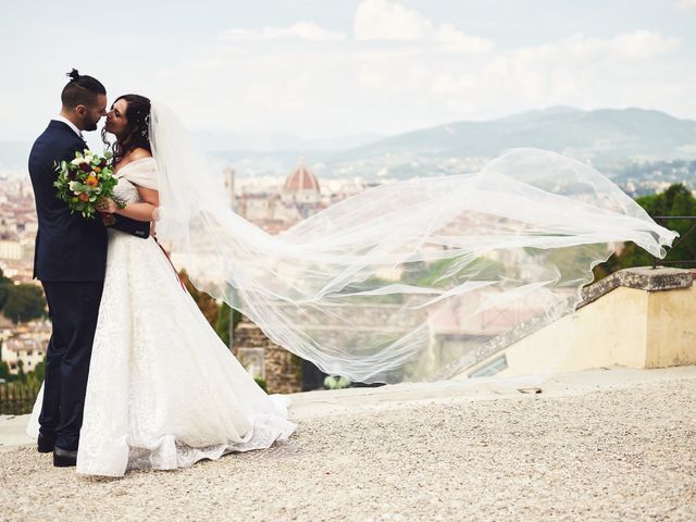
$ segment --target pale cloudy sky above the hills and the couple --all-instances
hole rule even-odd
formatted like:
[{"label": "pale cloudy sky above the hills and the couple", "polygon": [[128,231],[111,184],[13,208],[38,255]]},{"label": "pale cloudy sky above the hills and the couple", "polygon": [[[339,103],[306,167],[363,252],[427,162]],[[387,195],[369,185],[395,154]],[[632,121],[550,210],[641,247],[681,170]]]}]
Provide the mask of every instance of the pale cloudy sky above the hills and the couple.
[{"label": "pale cloudy sky above the hills and the couple", "polygon": [[0,140],[65,73],[196,130],[394,135],[532,109],[696,120],[696,0],[0,0]]}]

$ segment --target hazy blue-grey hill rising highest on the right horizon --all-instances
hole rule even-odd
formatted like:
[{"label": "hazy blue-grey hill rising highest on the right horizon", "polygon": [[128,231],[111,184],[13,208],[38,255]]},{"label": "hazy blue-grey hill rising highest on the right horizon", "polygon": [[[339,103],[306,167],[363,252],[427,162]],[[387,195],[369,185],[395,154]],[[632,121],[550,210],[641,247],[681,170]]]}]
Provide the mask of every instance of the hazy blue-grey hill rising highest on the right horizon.
[{"label": "hazy blue-grey hill rising highest on the right horizon", "polygon": [[336,154],[337,161],[385,154],[492,158],[538,147],[598,165],[696,158],[696,122],[659,111],[555,107],[488,122],[453,122],[401,134]]}]

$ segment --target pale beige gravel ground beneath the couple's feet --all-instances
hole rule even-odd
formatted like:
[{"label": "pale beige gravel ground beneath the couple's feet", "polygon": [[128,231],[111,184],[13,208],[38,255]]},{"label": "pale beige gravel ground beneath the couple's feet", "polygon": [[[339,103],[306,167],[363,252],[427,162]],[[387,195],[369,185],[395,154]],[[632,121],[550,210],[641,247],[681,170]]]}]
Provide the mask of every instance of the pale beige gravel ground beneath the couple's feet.
[{"label": "pale beige gravel ground beneath the couple's feet", "polygon": [[87,478],[0,450],[0,520],[696,520],[696,378],[299,421],[288,443]]}]

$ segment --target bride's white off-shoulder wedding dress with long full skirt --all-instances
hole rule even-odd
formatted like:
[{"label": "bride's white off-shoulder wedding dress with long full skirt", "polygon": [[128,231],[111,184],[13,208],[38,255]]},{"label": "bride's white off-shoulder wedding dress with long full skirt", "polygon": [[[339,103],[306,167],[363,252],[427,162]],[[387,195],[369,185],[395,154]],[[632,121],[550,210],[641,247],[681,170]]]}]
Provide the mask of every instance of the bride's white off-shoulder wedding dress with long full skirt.
[{"label": "bride's white off-shoulder wedding dress with long full skirt", "polygon": [[[157,188],[152,158],[121,169],[115,197]],[[41,397],[29,423],[38,432]],[[153,238],[109,231],[77,471],[121,476],[270,447],[295,430],[287,398],[266,395],[185,291]],[[33,433],[34,432],[34,433]]]}]

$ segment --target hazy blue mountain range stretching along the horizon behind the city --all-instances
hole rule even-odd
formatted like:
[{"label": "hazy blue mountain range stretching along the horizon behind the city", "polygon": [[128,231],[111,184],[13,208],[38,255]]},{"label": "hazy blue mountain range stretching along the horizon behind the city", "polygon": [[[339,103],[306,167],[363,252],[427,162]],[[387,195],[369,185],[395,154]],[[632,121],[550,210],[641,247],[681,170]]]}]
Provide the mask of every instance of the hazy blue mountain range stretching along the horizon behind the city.
[{"label": "hazy blue mountain range stretching along the horizon behind the city", "polygon": [[[460,121],[381,138],[357,135],[308,140],[273,133],[197,133],[216,163],[240,176],[284,175],[300,158],[321,176],[410,177],[461,172],[476,159],[538,147],[592,161],[605,170],[636,162],[696,159],[696,121],[644,109],[583,111],[554,107],[508,117]],[[0,141],[0,167],[22,169],[29,146]]]}]

